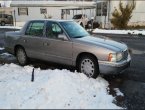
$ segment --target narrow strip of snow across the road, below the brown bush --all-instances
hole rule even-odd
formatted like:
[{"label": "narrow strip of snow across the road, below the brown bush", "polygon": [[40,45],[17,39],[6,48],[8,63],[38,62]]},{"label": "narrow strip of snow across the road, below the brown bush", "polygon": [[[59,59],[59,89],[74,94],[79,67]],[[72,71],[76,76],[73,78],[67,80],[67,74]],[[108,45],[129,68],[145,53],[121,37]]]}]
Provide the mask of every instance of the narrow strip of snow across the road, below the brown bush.
[{"label": "narrow strip of snow across the road, below the brown bush", "polygon": [[93,33],[109,33],[109,34],[142,34],[145,35],[145,30],[105,30],[96,28]]}]

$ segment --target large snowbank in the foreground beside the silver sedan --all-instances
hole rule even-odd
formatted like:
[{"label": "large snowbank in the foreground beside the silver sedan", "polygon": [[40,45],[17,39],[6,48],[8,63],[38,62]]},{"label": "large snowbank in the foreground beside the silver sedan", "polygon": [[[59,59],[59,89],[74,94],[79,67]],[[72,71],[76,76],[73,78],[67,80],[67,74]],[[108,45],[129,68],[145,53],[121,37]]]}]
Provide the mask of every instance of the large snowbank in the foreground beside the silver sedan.
[{"label": "large snowbank in the foreground beside the silver sedan", "polygon": [[15,64],[0,66],[0,108],[120,109],[107,92],[108,82],[101,77],[87,78],[68,70],[34,71]]}]

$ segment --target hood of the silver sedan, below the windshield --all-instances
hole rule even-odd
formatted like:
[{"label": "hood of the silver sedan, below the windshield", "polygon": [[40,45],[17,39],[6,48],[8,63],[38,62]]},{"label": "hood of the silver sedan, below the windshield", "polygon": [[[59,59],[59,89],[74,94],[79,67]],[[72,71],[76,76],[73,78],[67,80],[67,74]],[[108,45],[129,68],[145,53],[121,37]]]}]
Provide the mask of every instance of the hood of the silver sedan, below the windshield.
[{"label": "hood of the silver sedan, below the windshield", "polygon": [[124,51],[127,49],[127,46],[124,43],[108,40],[106,38],[93,37],[93,36],[74,38],[73,41],[77,43],[83,43],[86,45],[93,45],[93,46],[96,45],[99,47],[107,48],[112,51]]}]

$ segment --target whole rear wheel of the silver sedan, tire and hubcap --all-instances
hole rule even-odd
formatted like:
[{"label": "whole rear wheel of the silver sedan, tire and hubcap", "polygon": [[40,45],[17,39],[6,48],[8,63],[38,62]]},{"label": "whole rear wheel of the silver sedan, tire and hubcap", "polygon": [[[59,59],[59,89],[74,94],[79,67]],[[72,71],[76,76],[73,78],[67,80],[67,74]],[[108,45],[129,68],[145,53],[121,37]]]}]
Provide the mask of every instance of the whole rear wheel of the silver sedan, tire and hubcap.
[{"label": "whole rear wheel of the silver sedan, tire and hubcap", "polygon": [[18,47],[16,49],[16,57],[17,61],[21,66],[25,66],[28,62],[28,57],[26,55],[25,50],[22,47]]}]

